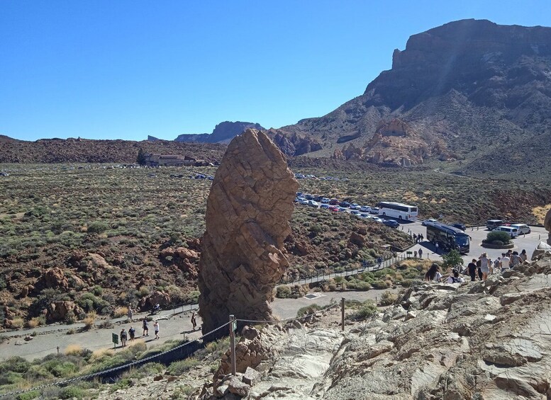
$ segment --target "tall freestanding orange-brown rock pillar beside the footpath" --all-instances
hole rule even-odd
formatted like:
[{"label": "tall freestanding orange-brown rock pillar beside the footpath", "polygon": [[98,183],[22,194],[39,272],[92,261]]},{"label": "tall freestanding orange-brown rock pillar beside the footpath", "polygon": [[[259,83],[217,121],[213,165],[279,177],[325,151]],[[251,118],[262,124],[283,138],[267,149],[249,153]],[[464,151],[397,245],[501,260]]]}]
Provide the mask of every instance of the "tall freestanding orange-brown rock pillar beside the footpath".
[{"label": "tall freestanding orange-brown rock pillar beside the footpath", "polygon": [[269,302],[288,263],[283,241],[299,184],[262,132],[229,144],[206,205],[199,261],[203,332],[240,319],[272,319]]}]

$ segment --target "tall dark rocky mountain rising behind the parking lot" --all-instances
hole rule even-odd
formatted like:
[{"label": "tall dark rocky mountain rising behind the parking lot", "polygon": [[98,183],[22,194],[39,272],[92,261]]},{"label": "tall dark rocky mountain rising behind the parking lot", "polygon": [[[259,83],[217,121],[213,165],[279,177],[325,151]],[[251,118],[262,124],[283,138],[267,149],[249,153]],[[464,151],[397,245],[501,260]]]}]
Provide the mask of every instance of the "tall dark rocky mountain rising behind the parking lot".
[{"label": "tall dark rocky mountain rising behind the parking lot", "polygon": [[460,159],[476,171],[503,152],[513,162],[500,168],[533,164],[530,143],[547,159],[550,128],[551,28],[464,20],[411,36],[362,96],[281,131],[310,136],[317,154],[337,159]]}]

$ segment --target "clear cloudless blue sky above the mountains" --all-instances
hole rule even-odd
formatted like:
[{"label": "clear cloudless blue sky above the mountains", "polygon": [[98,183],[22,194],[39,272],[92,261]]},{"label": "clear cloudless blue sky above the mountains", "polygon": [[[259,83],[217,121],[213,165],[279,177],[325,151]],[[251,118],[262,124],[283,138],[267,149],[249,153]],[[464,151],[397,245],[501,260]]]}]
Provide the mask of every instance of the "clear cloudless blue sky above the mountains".
[{"label": "clear cloudless blue sky above the mountains", "polygon": [[463,18],[549,26],[550,16],[549,0],[2,0],[0,135],[281,127],[362,94],[410,35]]}]

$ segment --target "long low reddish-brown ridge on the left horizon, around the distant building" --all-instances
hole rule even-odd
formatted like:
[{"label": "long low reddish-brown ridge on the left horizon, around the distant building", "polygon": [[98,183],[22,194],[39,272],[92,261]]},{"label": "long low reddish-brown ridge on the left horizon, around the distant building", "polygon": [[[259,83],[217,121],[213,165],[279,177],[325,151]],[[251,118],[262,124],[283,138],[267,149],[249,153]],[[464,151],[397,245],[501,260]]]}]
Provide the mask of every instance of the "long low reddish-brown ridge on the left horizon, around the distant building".
[{"label": "long low reddish-brown ridge on the left horizon, around the distant building", "polygon": [[226,146],[167,140],[40,139],[36,142],[0,137],[0,163],[134,163],[138,149],[220,161]]}]

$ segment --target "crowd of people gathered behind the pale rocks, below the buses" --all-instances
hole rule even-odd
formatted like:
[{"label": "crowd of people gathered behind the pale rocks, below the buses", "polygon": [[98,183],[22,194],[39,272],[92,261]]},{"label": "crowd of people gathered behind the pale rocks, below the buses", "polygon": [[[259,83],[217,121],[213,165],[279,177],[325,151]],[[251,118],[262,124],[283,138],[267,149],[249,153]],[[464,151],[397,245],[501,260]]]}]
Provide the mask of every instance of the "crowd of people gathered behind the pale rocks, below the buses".
[{"label": "crowd of people gathered behind the pale rocks, below the buses", "polygon": [[[473,258],[467,265],[465,273],[471,277],[471,282],[477,280],[488,279],[488,275],[492,273],[505,272],[506,270],[515,267],[523,263],[528,259],[526,251],[523,250],[519,254],[518,251],[509,250],[507,253],[501,253],[501,257],[496,258],[493,262],[488,257],[487,253],[482,253],[478,260]],[[427,273],[425,273],[425,280],[440,282],[442,280],[442,274],[440,273],[440,266],[437,263],[430,265]],[[464,279],[460,277],[460,271],[454,269],[450,276],[446,280],[447,283],[462,283]]]}]

